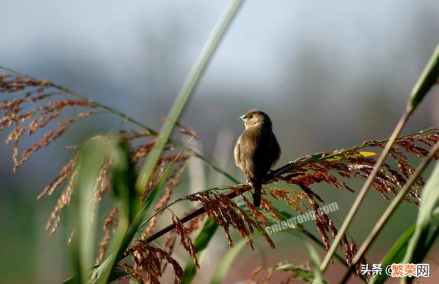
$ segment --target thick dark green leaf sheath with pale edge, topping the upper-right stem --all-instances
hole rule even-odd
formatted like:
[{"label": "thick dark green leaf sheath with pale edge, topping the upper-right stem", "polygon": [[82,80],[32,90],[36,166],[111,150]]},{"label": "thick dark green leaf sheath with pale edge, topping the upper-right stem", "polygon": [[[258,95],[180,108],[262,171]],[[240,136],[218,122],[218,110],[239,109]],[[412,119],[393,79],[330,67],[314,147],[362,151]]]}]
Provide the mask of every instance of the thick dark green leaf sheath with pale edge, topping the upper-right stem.
[{"label": "thick dark green leaf sheath with pale edge, topping the upper-right stem", "polygon": [[430,90],[431,86],[436,83],[439,77],[439,44],[431,55],[427,66],[410,93],[410,99],[407,103],[407,110],[412,112],[418,104],[424,99],[424,96]]}]

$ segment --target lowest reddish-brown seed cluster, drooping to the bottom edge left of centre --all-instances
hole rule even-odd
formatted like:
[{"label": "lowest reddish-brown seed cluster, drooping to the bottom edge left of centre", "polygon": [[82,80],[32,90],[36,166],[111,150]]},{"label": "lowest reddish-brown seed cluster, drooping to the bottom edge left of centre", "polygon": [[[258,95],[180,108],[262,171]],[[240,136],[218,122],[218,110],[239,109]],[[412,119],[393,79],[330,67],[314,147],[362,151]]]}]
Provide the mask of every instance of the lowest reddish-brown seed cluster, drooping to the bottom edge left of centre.
[{"label": "lowest reddish-brown seed cluster, drooping to the bottom edge left of centre", "polygon": [[139,242],[130,253],[139,269],[146,272],[147,281],[160,284],[158,278],[163,274],[161,262],[166,261],[174,268],[174,283],[179,283],[183,276],[180,264],[163,248],[157,248],[148,242]]}]

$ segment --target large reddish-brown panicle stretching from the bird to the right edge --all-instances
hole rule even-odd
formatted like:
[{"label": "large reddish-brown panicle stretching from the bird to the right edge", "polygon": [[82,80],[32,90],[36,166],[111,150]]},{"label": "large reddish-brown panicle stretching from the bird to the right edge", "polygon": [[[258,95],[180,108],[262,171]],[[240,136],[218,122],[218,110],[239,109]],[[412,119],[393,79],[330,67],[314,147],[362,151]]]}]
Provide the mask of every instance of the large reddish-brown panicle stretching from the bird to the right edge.
[{"label": "large reddish-brown panicle stretching from the bird to the right edge", "polygon": [[[395,196],[398,192],[397,189],[401,188],[407,179],[414,172],[414,168],[410,166],[408,162],[407,154],[411,153],[416,157],[423,158],[429,151],[424,149],[419,144],[425,144],[431,146],[439,140],[439,133],[425,133],[414,135],[412,137],[407,136],[396,140],[396,146],[392,146],[390,150],[390,157],[392,163],[396,164],[397,168],[394,168],[391,164],[385,163],[380,168],[377,177],[372,181],[372,188],[374,188],[385,200],[390,200],[390,196]],[[378,143],[376,141],[364,142],[364,146],[374,146],[383,148],[385,143]],[[401,148],[407,153],[403,153]],[[331,155],[332,153],[326,153]],[[436,157],[437,159],[438,157]],[[346,185],[342,179],[357,178],[366,179],[372,171],[375,159],[372,157],[364,157],[359,151],[348,151],[340,154],[334,159],[319,160],[302,166],[300,172],[290,172],[289,175],[278,177],[285,181],[285,183],[292,185],[299,185],[309,187],[313,183],[325,182],[329,183],[335,188],[344,188],[353,192],[353,190]],[[410,195],[405,197],[405,201],[411,203],[418,203],[418,189],[425,183],[425,180],[420,177],[410,190]],[[412,196],[413,198],[410,198]],[[317,195],[315,195],[317,199]]]}]

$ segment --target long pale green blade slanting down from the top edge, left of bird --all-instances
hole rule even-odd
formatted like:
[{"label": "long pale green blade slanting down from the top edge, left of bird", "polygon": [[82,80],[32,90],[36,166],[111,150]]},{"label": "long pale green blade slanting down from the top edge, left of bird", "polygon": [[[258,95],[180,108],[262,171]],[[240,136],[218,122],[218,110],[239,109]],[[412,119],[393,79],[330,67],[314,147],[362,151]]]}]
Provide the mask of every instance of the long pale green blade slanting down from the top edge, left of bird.
[{"label": "long pale green blade slanting down from the top edge, left of bird", "polygon": [[178,96],[174,101],[174,104],[172,105],[169,114],[167,115],[167,119],[163,123],[163,127],[161,128],[160,133],[158,133],[156,144],[154,145],[154,148],[152,149],[150,155],[148,155],[147,160],[141,170],[141,176],[137,182],[137,190],[139,192],[143,192],[145,186],[150,180],[152,171],[154,170],[154,166],[156,165],[156,162],[160,158],[163,151],[163,147],[169,140],[169,136],[174,130],[178,118],[182,114],[183,109],[185,108],[187,102],[193,94],[193,89],[198,83],[200,76],[206,69],[206,66],[209,63],[213,52],[217,48],[219,41],[224,36],[226,29],[230,25],[230,22],[235,16],[240,4],[240,0],[230,1],[228,7],[226,8],[226,11],[221,16],[221,18],[219,18],[216,27],[213,29],[211,36],[209,36],[206,44],[204,44],[204,47],[200,55],[198,56],[198,59],[195,61],[195,64],[193,65],[191,71],[189,72],[189,75],[187,76],[187,79],[185,80],[185,83],[183,83],[183,86],[178,93]]}]

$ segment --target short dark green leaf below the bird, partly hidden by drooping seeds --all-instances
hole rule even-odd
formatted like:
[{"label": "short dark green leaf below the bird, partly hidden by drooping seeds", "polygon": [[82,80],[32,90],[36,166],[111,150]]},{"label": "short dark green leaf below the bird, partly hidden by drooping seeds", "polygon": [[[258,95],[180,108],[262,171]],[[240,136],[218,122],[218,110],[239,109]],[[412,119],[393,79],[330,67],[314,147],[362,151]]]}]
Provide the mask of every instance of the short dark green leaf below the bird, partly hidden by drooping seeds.
[{"label": "short dark green leaf below the bird, partly hidden by drooping seeds", "polygon": [[[204,223],[200,233],[195,238],[193,245],[197,249],[198,252],[198,261],[201,262],[204,257],[204,249],[207,247],[209,242],[211,242],[213,235],[218,229],[218,224],[212,218],[208,218]],[[197,268],[193,263],[192,259],[189,259],[186,263],[185,267],[185,276],[183,276],[182,283],[189,284],[193,281],[193,278],[197,274]]]}]

